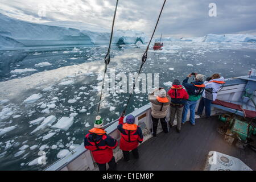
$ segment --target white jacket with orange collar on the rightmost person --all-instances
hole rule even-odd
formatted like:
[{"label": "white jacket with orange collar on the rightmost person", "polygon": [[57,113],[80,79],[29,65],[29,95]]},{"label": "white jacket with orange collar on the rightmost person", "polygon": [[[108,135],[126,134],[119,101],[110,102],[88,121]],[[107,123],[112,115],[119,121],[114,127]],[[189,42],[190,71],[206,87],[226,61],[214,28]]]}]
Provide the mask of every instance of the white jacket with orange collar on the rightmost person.
[{"label": "white jacket with orange collar on the rightmost person", "polygon": [[202,94],[202,97],[207,98],[208,100],[211,100],[211,101],[216,100],[217,93],[220,90],[220,87],[222,86],[222,84],[219,84],[219,83],[214,82],[214,81],[224,82],[224,77],[220,77],[220,78],[217,78],[217,79],[213,79],[213,80],[204,82],[205,90]]}]

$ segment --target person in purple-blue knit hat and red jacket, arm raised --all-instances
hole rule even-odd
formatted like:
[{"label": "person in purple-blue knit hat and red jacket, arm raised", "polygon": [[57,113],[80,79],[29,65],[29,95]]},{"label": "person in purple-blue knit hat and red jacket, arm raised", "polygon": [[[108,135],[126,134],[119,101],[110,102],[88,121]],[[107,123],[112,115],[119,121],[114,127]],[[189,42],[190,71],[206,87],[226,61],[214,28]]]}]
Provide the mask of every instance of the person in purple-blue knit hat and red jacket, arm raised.
[{"label": "person in purple-blue knit hat and red jacket, arm raised", "polygon": [[143,134],[141,127],[137,126],[133,115],[129,114],[126,116],[125,123],[123,118],[125,113],[121,114],[117,129],[121,133],[120,149],[123,151],[123,158],[126,161],[130,160],[130,151],[135,159],[139,158],[138,145],[143,141]]}]

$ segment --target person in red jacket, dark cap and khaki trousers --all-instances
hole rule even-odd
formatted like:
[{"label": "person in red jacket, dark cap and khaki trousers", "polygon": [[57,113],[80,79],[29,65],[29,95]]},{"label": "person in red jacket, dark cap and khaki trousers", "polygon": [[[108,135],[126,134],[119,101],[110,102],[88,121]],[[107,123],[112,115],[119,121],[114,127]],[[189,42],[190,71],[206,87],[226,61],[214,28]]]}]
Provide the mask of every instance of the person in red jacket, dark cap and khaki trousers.
[{"label": "person in red jacket, dark cap and khaki trousers", "polygon": [[169,125],[172,127],[174,125],[175,114],[177,114],[177,126],[176,130],[180,133],[181,130],[181,118],[183,106],[188,99],[188,93],[185,89],[180,85],[180,81],[175,79],[172,83],[171,89],[168,91],[168,95],[171,97],[171,118]]}]

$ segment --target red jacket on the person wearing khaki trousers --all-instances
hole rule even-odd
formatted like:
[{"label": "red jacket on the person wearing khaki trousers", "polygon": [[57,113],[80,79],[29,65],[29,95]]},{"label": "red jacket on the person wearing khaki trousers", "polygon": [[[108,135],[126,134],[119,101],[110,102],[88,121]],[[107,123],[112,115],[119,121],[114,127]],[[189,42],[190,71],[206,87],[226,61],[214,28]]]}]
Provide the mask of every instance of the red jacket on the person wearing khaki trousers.
[{"label": "red jacket on the person wearing khaki trousers", "polygon": [[187,91],[181,85],[172,85],[172,88],[168,91],[168,95],[172,99],[172,106],[183,106],[189,97]]}]

